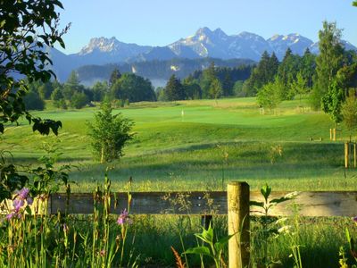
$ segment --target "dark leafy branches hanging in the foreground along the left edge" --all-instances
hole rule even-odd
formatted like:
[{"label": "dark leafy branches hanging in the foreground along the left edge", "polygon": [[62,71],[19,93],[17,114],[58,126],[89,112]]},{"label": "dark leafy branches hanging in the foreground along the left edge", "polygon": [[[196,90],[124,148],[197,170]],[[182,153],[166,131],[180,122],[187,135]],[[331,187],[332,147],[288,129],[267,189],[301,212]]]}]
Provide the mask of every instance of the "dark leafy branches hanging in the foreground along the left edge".
[{"label": "dark leafy branches hanging in the foreground along the left edge", "polygon": [[[23,101],[29,92],[28,82],[46,82],[54,76],[47,48],[57,43],[64,48],[62,35],[70,25],[58,30],[60,17],[56,8],[63,8],[58,0],[0,0],[0,133],[21,117],[42,135],[50,131],[57,135],[62,127],[61,121],[33,116]],[[0,201],[29,181],[14,164],[6,161],[4,154],[0,172]]]}]

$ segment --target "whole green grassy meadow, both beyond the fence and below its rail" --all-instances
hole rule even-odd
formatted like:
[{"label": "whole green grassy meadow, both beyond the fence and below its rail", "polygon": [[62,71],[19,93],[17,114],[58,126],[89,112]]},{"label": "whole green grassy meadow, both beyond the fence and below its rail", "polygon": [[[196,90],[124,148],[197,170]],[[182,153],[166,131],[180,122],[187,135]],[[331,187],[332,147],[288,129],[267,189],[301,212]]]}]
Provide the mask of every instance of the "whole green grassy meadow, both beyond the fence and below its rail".
[{"label": "whole green grassy meadow, both beyond the fence and below its rail", "polygon": [[[55,110],[51,103],[47,107],[46,111],[35,114],[62,121],[58,137],[33,133],[22,121],[19,126],[5,130],[0,149],[11,151],[15,163],[31,165],[38,164],[37,158],[45,154],[43,144],[53,145],[61,154],[56,165],[73,166],[72,192],[92,192],[97,182],[104,180],[107,167],[112,191],[125,190],[130,177],[132,191],[224,190],[229,180],[245,180],[251,189],[259,189],[265,183],[273,190],[287,191],[357,188],[357,172],[344,167],[343,142],[350,133],[340,125],[337,141],[330,141],[331,121],[326,114],[311,111],[306,101],[303,107],[298,101],[286,101],[274,113],[265,111],[265,114],[254,98],[130,104],[114,112],[135,122],[135,138],[119,161],[107,164],[93,160],[87,138],[87,121],[93,120],[97,108],[62,111]],[[48,219],[29,219],[22,215],[26,221],[0,222],[3,227],[8,224],[9,230],[0,232],[4,242],[0,247],[7,248],[0,255],[0,264],[9,262],[5,252],[12,255],[8,248],[14,243],[16,251],[10,260],[13,264],[23,262],[25,267],[28,264],[22,252],[35,243],[37,249],[29,252],[29,259],[41,267],[70,264],[110,267],[111,255],[102,255],[102,247],[111,254],[115,243],[121,243],[118,248],[124,248],[114,236],[121,233],[121,238],[126,237],[128,242],[122,255],[119,249],[119,256],[112,259],[114,266],[172,267],[175,260],[171,246],[182,253],[198,243],[193,234],[200,231],[199,216],[135,215],[131,217],[132,224],[118,226],[115,216],[105,216],[103,208],[97,213],[94,212],[93,218],[74,215],[62,218],[59,214]],[[295,219],[289,221],[294,225]],[[295,242],[303,266],[337,267],[340,247],[348,248],[345,228],[354,236],[357,226],[347,218],[299,218],[298,221],[299,236]],[[40,242],[38,225],[47,228],[41,232]],[[227,216],[214,216],[213,226],[217,237],[225,236]],[[270,227],[277,226],[271,222]],[[22,230],[27,232],[26,239]],[[293,247],[291,237],[265,234],[259,218],[252,218],[251,231],[253,267],[267,267],[268,263],[270,267],[295,265],[289,257]],[[95,240],[97,235],[106,240]],[[25,246],[17,248],[16,238],[25,239]],[[267,255],[263,254],[265,247]],[[347,257],[352,260],[351,255]],[[227,260],[227,247],[224,259]],[[191,267],[201,264],[195,255],[187,255],[185,260]],[[206,258],[204,264],[212,263]]]}]

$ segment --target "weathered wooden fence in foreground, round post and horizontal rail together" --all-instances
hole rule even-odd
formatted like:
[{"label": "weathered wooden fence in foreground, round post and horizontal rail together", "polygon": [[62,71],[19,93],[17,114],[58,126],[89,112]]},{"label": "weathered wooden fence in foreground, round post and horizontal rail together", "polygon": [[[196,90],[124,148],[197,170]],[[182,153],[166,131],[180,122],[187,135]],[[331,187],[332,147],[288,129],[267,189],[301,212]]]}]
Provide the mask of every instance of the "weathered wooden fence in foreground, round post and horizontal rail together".
[{"label": "weathered wooden fence in foreground, round post and horizontal rail together", "polygon": [[[284,197],[288,192],[271,193],[271,198]],[[93,194],[54,194],[50,197],[48,213],[92,214]],[[227,192],[137,192],[131,193],[130,214],[228,214],[228,234],[235,234],[228,242],[228,267],[249,265],[249,216],[260,214],[258,207],[249,206],[249,201],[262,202],[262,194],[249,191],[245,182],[231,182]],[[303,216],[349,216],[357,215],[357,191],[315,191],[295,193],[292,200],[280,203],[270,210],[270,215],[293,214],[293,205],[298,205]],[[111,213],[120,214],[128,207],[128,194],[112,196]]]}]

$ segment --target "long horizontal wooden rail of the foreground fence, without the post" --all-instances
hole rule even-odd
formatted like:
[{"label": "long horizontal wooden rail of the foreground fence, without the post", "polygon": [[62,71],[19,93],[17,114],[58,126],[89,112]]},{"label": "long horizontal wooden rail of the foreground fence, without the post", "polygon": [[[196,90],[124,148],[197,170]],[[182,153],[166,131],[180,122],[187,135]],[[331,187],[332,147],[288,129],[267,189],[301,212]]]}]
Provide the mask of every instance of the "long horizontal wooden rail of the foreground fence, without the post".
[{"label": "long horizontal wooden rail of the foreground fence, without the post", "polygon": [[[270,198],[284,197],[288,192],[273,192]],[[120,214],[128,209],[128,194],[112,195],[111,213]],[[130,214],[227,214],[227,192],[135,192],[131,193]],[[250,193],[251,200],[262,202],[258,191]],[[66,210],[66,194],[53,194],[50,212],[57,214]],[[93,194],[71,194],[69,214],[92,214]],[[285,216],[295,211],[304,216],[356,216],[357,192],[300,192],[294,199],[271,208],[270,215]],[[251,206],[251,214],[262,210]]]}]

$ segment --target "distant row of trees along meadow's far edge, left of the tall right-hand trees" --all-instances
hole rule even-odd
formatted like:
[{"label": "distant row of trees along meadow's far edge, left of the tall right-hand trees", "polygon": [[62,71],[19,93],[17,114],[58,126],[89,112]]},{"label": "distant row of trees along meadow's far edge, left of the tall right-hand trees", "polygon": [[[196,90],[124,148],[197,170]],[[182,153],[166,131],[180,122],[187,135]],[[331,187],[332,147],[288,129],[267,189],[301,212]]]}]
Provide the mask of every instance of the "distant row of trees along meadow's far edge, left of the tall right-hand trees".
[{"label": "distant row of trees along meadow's far edge, left of the tall right-hand trees", "polygon": [[45,100],[52,100],[57,108],[80,109],[91,102],[112,101],[120,107],[140,101],[174,101],[184,99],[218,98],[237,96],[243,81],[248,79],[253,66],[242,65],[235,68],[219,67],[212,62],[203,71],[194,71],[181,82],[175,75],[170,77],[165,88],[154,90],[151,81],[134,73],[121,74],[112,71],[109,80],[97,81],[87,88],[79,81],[79,75],[72,71],[69,79],[60,83],[57,80],[33,81],[24,102],[29,110],[43,110]]}]

